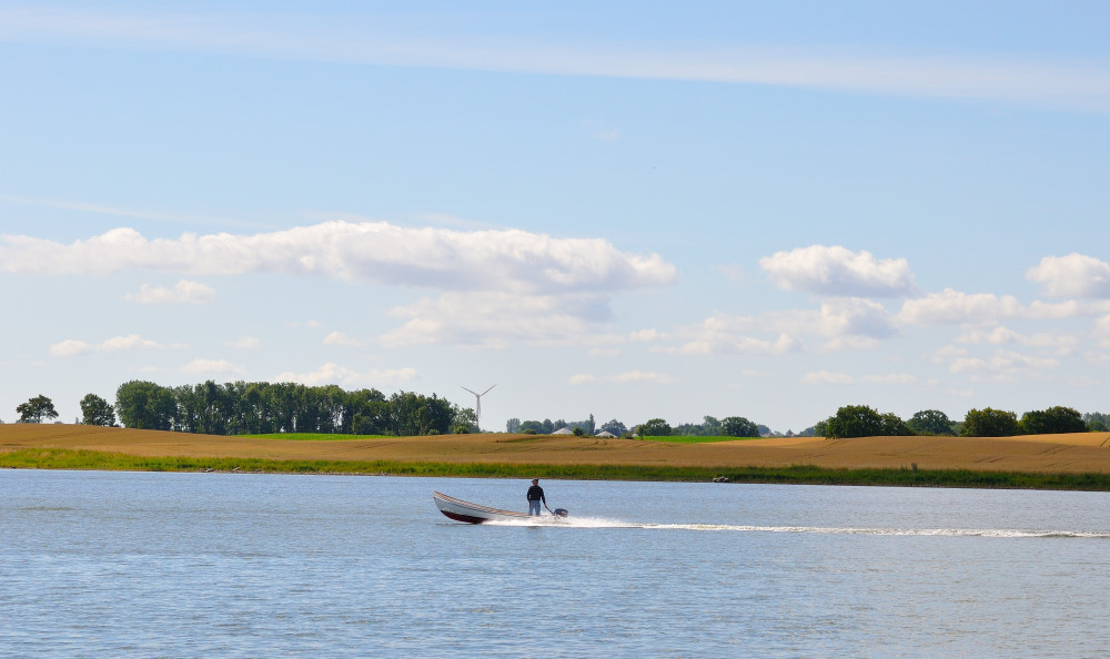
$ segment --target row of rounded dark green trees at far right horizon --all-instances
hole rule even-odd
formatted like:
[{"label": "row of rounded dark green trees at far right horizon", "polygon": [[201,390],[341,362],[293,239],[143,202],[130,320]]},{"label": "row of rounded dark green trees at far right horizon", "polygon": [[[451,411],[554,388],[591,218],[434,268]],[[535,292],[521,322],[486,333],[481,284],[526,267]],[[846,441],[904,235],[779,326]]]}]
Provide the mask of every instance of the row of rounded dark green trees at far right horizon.
[{"label": "row of rounded dark green trees at far right horizon", "polygon": [[807,429],[805,435],[819,437],[875,437],[905,435],[959,435],[962,437],[1010,437],[1058,433],[1107,432],[1110,417],[1081,415],[1071,407],[1049,407],[1027,412],[1018,418],[1013,412],[970,409],[962,422],[953,422],[939,409],[924,409],[902,420],[892,413],[879,413],[866,405],[847,405],[829,418]]}]

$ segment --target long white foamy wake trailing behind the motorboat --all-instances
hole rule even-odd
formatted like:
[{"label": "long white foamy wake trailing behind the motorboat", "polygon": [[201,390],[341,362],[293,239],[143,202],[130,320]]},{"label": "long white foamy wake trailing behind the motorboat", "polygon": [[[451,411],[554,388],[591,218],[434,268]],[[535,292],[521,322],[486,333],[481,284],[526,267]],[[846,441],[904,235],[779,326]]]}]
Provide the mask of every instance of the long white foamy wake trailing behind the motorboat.
[{"label": "long white foamy wake trailing behind the motorboat", "polygon": [[968,538],[1101,538],[1110,531],[1030,530],[1006,528],[867,528],[836,526],[748,526],[731,524],[650,524],[606,519],[603,517],[538,517],[528,520],[494,521],[483,526],[544,526],[562,528],[632,528],[645,530],[684,530],[716,533],[826,534],[846,536],[917,536]]}]

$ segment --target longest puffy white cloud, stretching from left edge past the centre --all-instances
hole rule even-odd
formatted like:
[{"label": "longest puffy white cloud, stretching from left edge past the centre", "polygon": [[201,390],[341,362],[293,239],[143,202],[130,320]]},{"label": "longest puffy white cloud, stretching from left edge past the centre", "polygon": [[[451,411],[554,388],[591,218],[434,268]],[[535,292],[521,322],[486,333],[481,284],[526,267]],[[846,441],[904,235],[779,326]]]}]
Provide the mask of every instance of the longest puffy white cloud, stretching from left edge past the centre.
[{"label": "longest puffy white cloud, stretching from left edge past the centre", "polygon": [[627,254],[603,239],[556,239],[519,230],[462,232],[332,221],[254,235],[185,233],[153,240],[123,227],[71,244],[0,235],[0,272],[108,274],[127,268],[194,276],[281,273],[518,294],[660,286],[675,278],[675,266],[657,254]]}]

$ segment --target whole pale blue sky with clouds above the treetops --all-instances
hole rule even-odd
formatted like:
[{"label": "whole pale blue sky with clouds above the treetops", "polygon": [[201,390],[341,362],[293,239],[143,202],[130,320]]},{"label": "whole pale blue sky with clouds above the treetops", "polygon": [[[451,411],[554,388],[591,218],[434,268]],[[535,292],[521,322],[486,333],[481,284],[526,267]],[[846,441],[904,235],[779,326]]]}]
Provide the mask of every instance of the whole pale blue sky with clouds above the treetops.
[{"label": "whole pale blue sky with clouds above the treetops", "polygon": [[1100,2],[0,0],[0,420],[1110,412]]}]

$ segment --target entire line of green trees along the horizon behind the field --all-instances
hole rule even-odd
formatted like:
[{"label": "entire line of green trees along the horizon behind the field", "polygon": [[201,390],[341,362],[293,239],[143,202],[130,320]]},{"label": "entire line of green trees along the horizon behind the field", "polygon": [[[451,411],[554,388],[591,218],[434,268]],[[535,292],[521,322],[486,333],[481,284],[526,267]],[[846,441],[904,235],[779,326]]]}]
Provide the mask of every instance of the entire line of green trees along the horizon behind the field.
[{"label": "entire line of green trees along the horizon behind the field", "polygon": [[[41,394],[16,407],[20,423],[42,423],[58,418],[53,402]],[[263,435],[276,433],[336,433],[353,435],[443,435],[476,433],[474,409],[460,407],[435,394],[425,396],[398,392],[386,397],[377,389],[346,392],[336,385],[305,386],[296,383],[216,384],[165,387],[147,381],[131,381],[115,392],[115,405],[95,394],[81,399],[80,423],[97,426],[203,433],[209,435]],[[2,423],[2,422],[0,422]],[[599,426],[594,415],[582,422],[565,419],[524,420],[511,418],[508,433],[549,435],[567,428],[575,434],[608,432],[617,437],[649,436],[727,436],[770,435],[767,426],[743,416],[717,419],[703,417],[700,424],[672,426],[653,418],[632,427],[617,419]],[[1056,406],[1026,412],[985,407],[970,409],[962,420],[953,420],[939,409],[924,409],[902,419],[866,405],[847,405],[827,419],[806,428],[803,436],[829,438],[959,435],[965,437],[1008,437],[1058,433],[1110,432],[1110,414],[1080,414],[1071,407]]]}]

